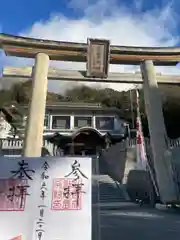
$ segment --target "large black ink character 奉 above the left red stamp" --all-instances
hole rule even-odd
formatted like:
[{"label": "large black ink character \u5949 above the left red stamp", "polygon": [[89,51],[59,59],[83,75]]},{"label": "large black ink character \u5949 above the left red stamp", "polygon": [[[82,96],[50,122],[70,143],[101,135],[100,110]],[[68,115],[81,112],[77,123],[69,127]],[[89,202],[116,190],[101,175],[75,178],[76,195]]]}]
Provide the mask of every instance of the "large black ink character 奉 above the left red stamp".
[{"label": "large black ink character \u5949 above the left red stamp", "polygon": [[18,170],[11,171],[11,173],[13,174],[12,178],[17,176],[21,180],[23,179],[33,180],[30,174],[35,173],[35,171],[32,169],[29,169],[29,164],[24,160],[22,160],[18,162],[18,165],[19,165]]}]

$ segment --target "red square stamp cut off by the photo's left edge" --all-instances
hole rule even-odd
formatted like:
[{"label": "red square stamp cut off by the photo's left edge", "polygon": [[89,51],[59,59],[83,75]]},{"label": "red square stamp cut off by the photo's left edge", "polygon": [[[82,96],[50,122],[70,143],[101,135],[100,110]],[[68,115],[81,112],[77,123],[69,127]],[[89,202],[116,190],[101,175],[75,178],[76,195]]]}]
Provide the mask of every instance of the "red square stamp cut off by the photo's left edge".
[{"label": "red square stamp cut off by the photo's left edge", "polygon": [[27,180],[0,179],[0,211],[24,211]]}]

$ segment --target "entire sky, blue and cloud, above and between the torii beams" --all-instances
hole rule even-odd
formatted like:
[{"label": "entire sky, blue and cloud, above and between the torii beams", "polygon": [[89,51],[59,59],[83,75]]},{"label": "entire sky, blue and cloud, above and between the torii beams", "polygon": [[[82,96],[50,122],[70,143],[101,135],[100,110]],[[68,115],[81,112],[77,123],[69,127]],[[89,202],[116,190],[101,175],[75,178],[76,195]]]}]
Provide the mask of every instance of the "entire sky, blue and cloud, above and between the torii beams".
[{"label": "entire sky, blue and cloud, above and between the torii beams", "polygon": [[[124,46],[180,46],[179,0],[1,0],[0,32],[59,41],[87,42],[88,37],[109,39]],[[34,60],[6,57],[0,67],[32,65]],[[63,69],[85,69],[83,63],[51,62]],[[134,72],[139,67],[113,65],[110,71]],[[180,67],[157,67],[157,72],[180,74]],[[78,83],[49,82],[62,93]],[[93,84],[127,90],[127,84]]]}]

